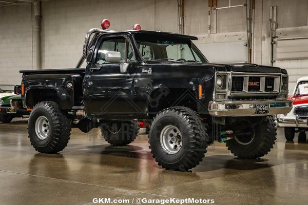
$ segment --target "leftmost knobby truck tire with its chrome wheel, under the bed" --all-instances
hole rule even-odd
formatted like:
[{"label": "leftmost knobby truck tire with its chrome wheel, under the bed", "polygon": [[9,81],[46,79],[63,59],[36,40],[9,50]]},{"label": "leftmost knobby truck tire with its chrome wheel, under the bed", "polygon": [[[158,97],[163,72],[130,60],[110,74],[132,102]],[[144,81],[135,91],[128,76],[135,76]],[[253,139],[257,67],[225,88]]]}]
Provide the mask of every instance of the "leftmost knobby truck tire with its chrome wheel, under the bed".
[{"label": "leftmost knobby truck tire with its chrome wheel, under the bed", "polygon": [[41,153],[62,151],[70,139],[70,121],[53,101],[37,103],[29,117],[28,133],[31,145]]}]

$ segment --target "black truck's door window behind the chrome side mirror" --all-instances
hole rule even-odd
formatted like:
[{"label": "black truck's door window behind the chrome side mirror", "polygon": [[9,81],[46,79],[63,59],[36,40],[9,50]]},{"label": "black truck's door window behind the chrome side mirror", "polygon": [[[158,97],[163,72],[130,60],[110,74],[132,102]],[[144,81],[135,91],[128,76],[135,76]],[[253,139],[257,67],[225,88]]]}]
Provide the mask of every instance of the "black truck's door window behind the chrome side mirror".
[{"label": "black truck's door window behind the chrome side mirror", "polygon": [[[128,60],[135,60],[131,45],[128,46]],[[97,56],[97,64],[102,65],[106,63],[105,55],[109,51],[117,51],[121,53],[121,57],[125,59],[125,38],[124,37],[118,37],[118,38],[110,38],[107,40],[104,40],[103,43],[100,46],[100,49],[98,51]]]}]

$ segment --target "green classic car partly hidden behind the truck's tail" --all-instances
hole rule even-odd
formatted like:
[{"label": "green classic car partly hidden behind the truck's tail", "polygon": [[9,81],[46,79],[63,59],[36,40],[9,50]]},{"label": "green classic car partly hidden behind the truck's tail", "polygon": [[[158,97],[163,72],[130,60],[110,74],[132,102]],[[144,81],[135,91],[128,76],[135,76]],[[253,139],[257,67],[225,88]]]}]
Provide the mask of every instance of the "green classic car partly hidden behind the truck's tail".
[{"label": "green classic car partly hidden behind the truck's tail", "polygon": [[11,100],[16,99],[17,101],[21,101],[21,95],[15,95],[12,91],[0,89],[0,121],[4,123],[9,123],[14,117],[22,117],[23,115],[29,115],[30,112],[24,108],[11,108]]}]

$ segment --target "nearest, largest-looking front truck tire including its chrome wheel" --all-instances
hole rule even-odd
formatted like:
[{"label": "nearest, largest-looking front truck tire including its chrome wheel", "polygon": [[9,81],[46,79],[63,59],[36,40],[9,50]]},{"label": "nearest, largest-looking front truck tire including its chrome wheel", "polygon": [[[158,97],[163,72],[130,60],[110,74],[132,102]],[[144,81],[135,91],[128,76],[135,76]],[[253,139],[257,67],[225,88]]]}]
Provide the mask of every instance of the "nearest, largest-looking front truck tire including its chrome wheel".
[{"label": "nearest, largest-looking front truck tire including its chrome wheel", "polygon": [[149,148],[159,166],[188,171],[206,153],[208,135],[198,114],[186,107],[171,107],[156,115],[150,127]]}]

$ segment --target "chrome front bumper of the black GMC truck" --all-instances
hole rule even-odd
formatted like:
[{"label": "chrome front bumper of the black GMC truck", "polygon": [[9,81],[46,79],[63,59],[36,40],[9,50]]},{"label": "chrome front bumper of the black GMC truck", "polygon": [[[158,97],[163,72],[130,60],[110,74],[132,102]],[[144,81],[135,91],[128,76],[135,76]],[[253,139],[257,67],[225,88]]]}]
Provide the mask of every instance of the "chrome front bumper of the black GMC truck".
[{"label": "chrome front bumper of the black GMC truck", "polygon": [[[269,105],[265,114],[256,114],[257,105]],[[208,112],[212,116],[265,116],[288,113],[292,110],[292,100],[245,100],[245,101],[210,101]]]}]

